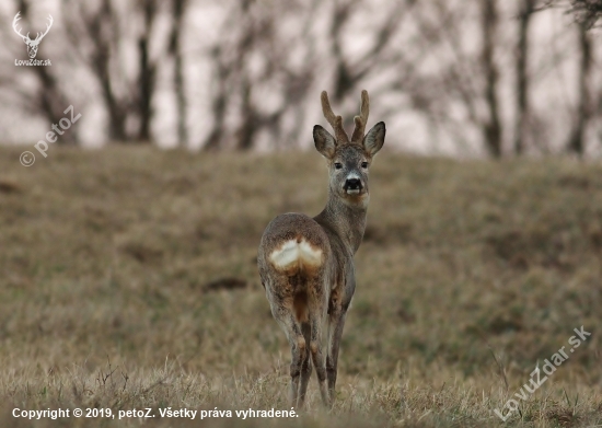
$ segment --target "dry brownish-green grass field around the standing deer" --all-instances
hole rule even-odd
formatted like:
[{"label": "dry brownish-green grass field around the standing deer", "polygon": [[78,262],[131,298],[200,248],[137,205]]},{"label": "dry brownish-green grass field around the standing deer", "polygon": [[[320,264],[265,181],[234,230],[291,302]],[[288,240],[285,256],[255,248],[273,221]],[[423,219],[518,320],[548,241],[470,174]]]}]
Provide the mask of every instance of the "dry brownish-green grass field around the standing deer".
[{"label": "dry brownish-green grass field around the standing deer", "polygon": [[[334,409],[313,378],[298,417],[241,420],[234,410],[290,410],[289,350],[255,256],[273,217],[322,209],[321,157],[53,147],[24,167],[22,150],[0,149],[1,427],[602,426],[600,162],[385,149]],[[521,393],[581,326],[591,336]],[[510,398],[502,423],[494,409]],[[166,407],[233,417],[160,417]]]}]

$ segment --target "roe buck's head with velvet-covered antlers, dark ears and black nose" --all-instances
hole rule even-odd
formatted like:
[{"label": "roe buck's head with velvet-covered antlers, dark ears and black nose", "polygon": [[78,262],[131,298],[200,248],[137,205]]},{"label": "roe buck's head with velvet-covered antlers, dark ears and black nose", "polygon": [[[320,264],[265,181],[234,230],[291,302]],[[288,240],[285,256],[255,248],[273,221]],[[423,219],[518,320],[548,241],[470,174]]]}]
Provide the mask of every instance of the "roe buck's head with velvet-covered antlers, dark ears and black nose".
[{"label": "roe buck's head with velvet-covered antlers, dark ears and black nose", "polygon": [[316,125],[313,139],[317,151],[328,161],[331,195],[338,196],[348,205],[366,206],[369,198],[368,169],[384,143],[384,123],[378,123],[368,134],[363,134],[370,111],[367,91],[361,92],[360,115],[354,118],[356,128],[351,140],[343,128],[343,118],[333,113],[326,91],[322,92],[322,111],[335,136]]}]

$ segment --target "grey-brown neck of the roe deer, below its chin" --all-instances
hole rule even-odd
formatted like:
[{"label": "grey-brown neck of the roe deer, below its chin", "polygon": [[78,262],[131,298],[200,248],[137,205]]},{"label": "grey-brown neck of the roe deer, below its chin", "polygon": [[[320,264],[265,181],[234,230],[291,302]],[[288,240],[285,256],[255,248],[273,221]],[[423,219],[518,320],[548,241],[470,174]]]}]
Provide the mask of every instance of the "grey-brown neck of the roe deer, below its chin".
[{"label": "grey-brown neck of the roe deer, below its chin", "polygon": [[350,204],[328,192],[326,207],[315,220],[334,232],[351,254],[355,254],[363,238],[367,212],[367,203]]}]

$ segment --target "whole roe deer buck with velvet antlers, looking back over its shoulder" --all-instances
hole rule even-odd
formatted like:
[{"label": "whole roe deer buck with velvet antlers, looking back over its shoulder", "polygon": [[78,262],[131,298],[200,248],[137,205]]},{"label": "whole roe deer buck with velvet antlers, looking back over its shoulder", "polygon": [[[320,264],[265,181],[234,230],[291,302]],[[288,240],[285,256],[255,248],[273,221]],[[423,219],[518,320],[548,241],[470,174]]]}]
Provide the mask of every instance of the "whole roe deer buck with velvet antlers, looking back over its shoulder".
[{"label": "whole roe deer buck with velvet antlers, looking back over its shoulder", "polygon": [[[313,128],[315,148],[326,158],[329,170],[326,207],[314,218],[302,213],[276,217],[259,244],[262,284],[271,314],[285,329],[291,348],[291,402],[297,407],[303,406],[312,361],[324,405],[334,404],[338,348],[356,289],[354,254],[366,229],[368,169],[385,135],[382,122],[363,135],[369,107],[368,92],[362,91],[360,116],[355,117],[349,141],[341,117],[335,116],[328,95],[322,92],[322,111],[335,131],[333,137],[320,125]],[[326,314],[329,323],[324,365],[322,325]]]}]

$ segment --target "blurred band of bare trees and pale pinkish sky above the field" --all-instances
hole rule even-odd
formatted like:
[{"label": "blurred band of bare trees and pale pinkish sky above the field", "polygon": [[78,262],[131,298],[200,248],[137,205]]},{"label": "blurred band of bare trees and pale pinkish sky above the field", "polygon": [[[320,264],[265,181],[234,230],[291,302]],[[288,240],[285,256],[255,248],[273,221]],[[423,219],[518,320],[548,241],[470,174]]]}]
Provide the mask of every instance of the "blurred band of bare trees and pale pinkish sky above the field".
[{"label": "blurred band of bare trees and pale pinkish sky above the field", "polygon": [[[58,143],[201,150],[308,147],[325,89],[359,92],[387,144],[424,154],[600,153],[595,1],[7,0],[0,134],[32,142],[73,105]],[[586,12],[583,16],[580,12]],[[54,25],[15,67],[23,33]],[[350,123],[348,126],[352,126]]]}]

